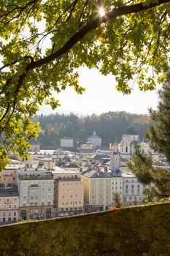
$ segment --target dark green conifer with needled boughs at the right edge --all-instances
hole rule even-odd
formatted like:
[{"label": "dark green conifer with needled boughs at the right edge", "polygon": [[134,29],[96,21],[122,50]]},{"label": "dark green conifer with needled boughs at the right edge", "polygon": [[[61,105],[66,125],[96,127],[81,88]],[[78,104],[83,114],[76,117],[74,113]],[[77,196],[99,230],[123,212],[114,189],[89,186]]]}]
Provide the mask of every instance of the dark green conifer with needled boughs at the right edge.
[{"label": "dark green conifer with needled boughs at the right edge", "polygon": [[[150,116],[155,121],[147,132],[150,139],[150,146],[166,156],[170,163],[170,76],[163,83],[159,91],[158,110],[150,110]],[[144,200],[150,201],[154,198],[170,197],[170,171],[164,167],[155,167],[152,157],[142,153],[140,146],[132,157],[128,167],[136,175],[138,180],[149,187],[144,189]],[[151,186],[151,187],[150,187]]]}]

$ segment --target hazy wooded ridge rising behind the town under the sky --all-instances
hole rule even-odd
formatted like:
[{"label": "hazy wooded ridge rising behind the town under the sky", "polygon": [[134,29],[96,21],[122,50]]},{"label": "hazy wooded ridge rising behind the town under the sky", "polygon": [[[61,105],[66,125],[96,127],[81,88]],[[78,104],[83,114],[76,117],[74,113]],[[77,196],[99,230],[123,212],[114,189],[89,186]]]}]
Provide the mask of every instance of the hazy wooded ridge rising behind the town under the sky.
[{"label": "hazy wooded ridge rising behind the town under the sky", "polygon": [[102,146],[109,146],[115,140],[122,138],[123,133],[131,123],[134,123],[140,140],[144,138],[147,128],[152,124],[150,117],[146,114],[134,114],[123,112],[108,112],[101,115],[78,117],[74,113],[69,115],[50,114],[48,116],[34,116],[34,121],[40,122],[42,133],[39,142],[42,148],[58,148],[63,137],[74,139],[75,146],[85,143],[88,137],[96,131],[102,138]]}]

